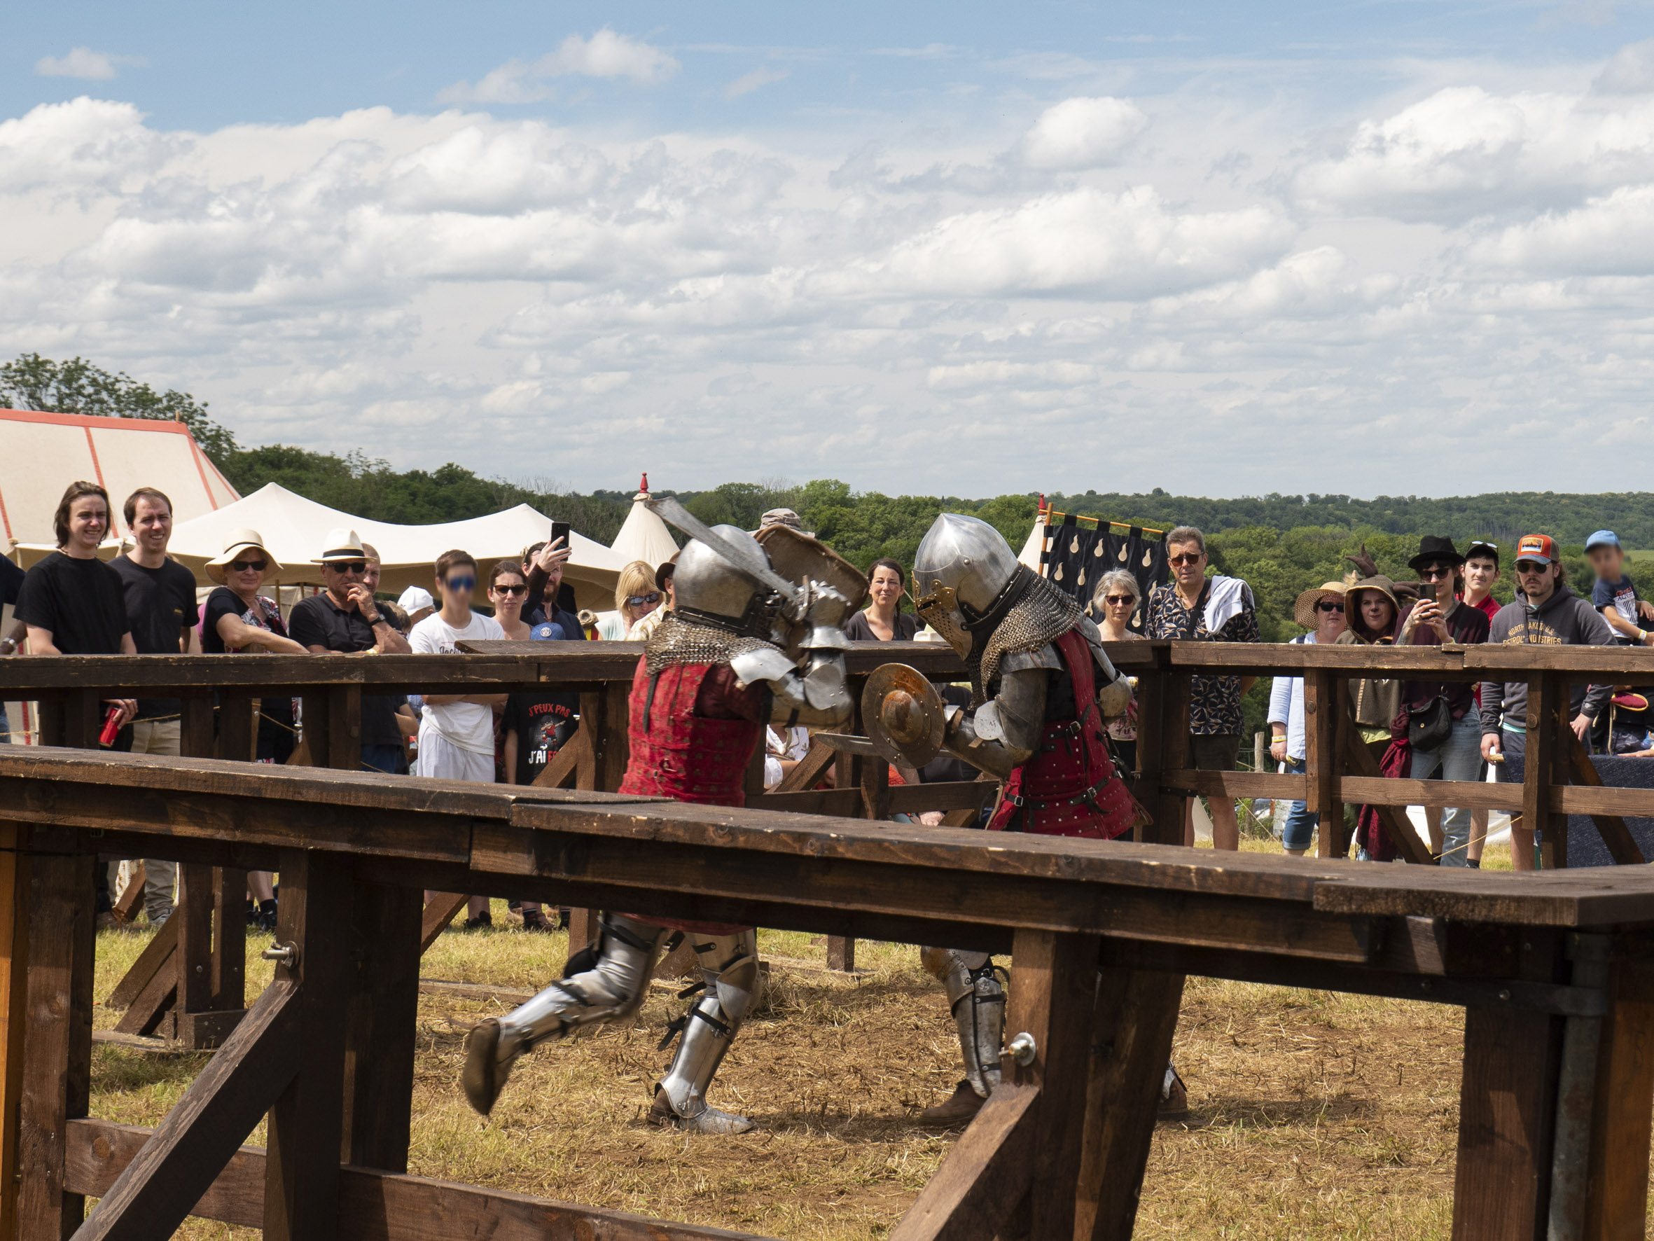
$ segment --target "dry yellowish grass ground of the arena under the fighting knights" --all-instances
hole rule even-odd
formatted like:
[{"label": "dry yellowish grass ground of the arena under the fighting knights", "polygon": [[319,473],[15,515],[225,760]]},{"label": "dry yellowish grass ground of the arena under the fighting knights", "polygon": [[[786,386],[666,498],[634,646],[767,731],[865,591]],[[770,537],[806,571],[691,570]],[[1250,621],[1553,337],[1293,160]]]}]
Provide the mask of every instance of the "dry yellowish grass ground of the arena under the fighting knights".
[{"label": "dry yellowish grass ground of the arena under the fighting knights", "polygon": [[[99,996],[142,943],[99,938]],[[270,966],[261,938],[248,946],[256,989]],[[941,988],[908,946],[858,945],[862,978],[827,973],[804,935],[764,933],[762,950],[776,958],[771,986],[715,1087],[759,1133],[686,1138],[643,1124],[668,1056],[655,1044],[683,1008],[665,989],[630,1024],[519,1061],[483,1124],[457,1087],[461,1041],[503,1006],[427,994],[412,1170],[782,1238],[885,1234],[956,1137],[911,1122],[958,1074]],[[423,975],[529,989],[564,953],[561,935],[450,932]],[[114,1021],[98,1009],[101,1028]],[[1191,980],[1176,1039],[1191,1112],[1156,1132],[1138,1236],[1446,1238],[1460,1046],[1454,1008]],[[203,1061],[101,1044],[93,1114],[152,1125]],[[256,1236],[207,1221],[179,1233],[243,1234]]]}]

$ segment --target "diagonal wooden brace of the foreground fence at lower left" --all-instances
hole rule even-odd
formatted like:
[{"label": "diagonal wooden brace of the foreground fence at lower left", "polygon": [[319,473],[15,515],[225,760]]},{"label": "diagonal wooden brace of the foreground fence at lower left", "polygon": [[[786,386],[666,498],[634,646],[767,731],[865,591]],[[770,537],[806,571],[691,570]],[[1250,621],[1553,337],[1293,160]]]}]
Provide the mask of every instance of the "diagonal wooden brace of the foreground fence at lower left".
[{"label": "diagonal wooden brace of the foreground fence at lower left", "polygon": [[293,1080],[309,1036],[298,1019],[301,989],[278,970],[246,1019],[126,1163],[74,1241],[172,1236]]}]

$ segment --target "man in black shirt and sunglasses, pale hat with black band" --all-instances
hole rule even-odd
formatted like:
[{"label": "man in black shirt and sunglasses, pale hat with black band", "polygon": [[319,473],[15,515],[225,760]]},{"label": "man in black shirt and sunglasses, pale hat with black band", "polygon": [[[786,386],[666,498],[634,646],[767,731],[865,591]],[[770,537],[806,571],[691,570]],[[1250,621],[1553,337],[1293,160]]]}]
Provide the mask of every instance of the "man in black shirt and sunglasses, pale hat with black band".
[{"label": "man in black shirt and sunglasses, pale hat with black band", "polygon": [[[364,584],[367,551],[354,529],[327,531],[327,546],[311,564],[321,566],[326,591],[299,599],[288,616],[288,634],[318,655],[364,650],[405,655],[412,647],[374,604]],[[397,728],[400,697],[362,695],[362,766],[395,774],[404,756]]]}]

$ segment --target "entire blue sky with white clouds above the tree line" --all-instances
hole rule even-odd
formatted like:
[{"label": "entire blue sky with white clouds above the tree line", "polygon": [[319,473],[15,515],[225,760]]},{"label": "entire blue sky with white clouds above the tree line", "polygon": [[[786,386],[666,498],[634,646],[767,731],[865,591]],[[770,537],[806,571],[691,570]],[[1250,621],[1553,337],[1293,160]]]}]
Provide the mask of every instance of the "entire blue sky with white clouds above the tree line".
[{"label": "entire blue sky with white clouds above the tree line", "polygon": [[1654,3],[33,5],[0,359],[574,490],[1654,490]]}]

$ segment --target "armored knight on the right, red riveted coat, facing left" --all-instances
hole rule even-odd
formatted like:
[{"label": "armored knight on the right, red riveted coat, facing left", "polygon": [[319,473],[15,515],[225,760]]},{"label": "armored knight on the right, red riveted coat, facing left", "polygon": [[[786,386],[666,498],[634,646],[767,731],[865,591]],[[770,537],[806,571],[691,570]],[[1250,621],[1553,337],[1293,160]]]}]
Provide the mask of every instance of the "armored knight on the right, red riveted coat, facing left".
[{"label": "armored knight on the right, red riveted coat, facing left", "polygon": [[[920,543],[913,594],[971,673],[971,707],[946,708],[943,748],[1004,781],[989,831],[1113,839],[1146,817],[1103,740],[1131,690],[1073,599],[1017,563],[997,529],[958,513]],[[964,1080],[920,1119],[958,1124],[999,1084],[1002,971],[987,953],[953,948],[920,960],[948,989],[964,1052]]]}]

